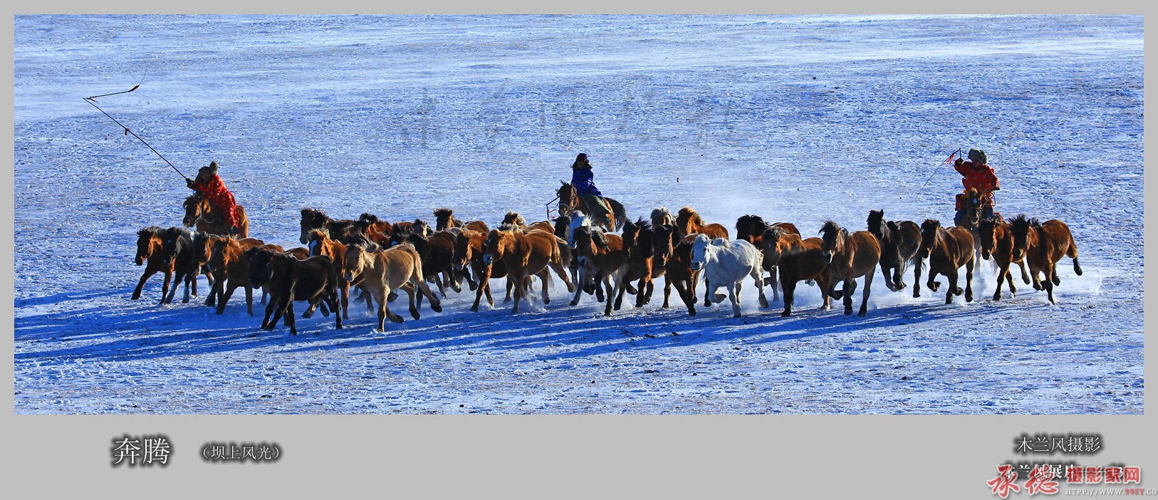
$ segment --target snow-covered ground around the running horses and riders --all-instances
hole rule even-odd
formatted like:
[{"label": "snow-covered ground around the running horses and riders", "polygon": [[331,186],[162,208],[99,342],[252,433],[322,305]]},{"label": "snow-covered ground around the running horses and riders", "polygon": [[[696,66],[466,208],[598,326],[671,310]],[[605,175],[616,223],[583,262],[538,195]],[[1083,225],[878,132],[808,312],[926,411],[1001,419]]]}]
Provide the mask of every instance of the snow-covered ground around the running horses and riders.
[{"label": "snow-covered ground around the running horses and riders", "polygon": [[[16,413],[1143,411],[1142,16],[19,15],[14,56]],[[579,152],[632,218],[948,222],[938,164],[980,147],[998,211],[1065,221],[1086,272],[1062,260],[1057,306],[992,302],[983,263],[973,303],[877,280],[863,318],[750,284],[739,319],[603,318],[556,282],[516,316],[464,292],[386,333],[360,307],[264,332],[239,295],[129,300],[135,231],[189,193],[82,101],[138,83],[101,106],[186,175],[217,161],[287,248],[302,206],[542,220]]]}]

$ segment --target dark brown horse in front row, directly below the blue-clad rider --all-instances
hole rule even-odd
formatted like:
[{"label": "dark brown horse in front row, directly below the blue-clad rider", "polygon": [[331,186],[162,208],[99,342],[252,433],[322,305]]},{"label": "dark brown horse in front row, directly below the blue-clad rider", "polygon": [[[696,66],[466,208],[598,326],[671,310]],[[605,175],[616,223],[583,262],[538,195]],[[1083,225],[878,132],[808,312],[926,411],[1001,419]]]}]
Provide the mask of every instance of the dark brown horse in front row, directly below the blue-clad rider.
[{"label": "dark brown horse in front row, directly below the blue-clad rider", "polygon": [[[576,258],[579,260],[579,282],[594,280],[596,287],[606,291],[603,316],[610,316],[615,289],[628,264],[628,251],[623,248],[623,238],[604,234],[600,227],[587,225],[576,227],[572,237]],[[615,286],[611,285],[613,279],[616,281]],[[581,294],[582,288],[578,287],[574,297],[571,299],[571,306],[579,304]]]}]

